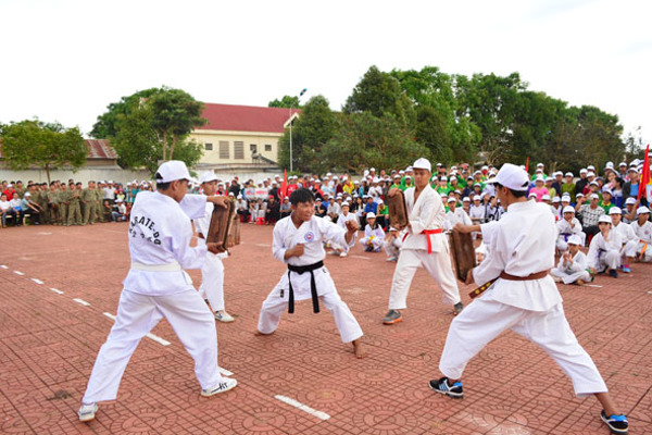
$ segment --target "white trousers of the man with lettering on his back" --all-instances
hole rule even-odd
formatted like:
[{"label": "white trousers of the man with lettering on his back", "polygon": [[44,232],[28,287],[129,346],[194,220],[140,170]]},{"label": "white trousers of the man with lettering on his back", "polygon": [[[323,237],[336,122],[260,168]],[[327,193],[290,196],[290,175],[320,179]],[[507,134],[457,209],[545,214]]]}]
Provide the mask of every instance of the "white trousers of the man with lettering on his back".
[{"label": "white trousers of the man with lettering on his back", "polygon": [[195,360],[203,389],[222,381],[217,366],[217,331],[213,314],[195,289],[167,296],[145,296],[123,290],[115,324],[100,348],[83,402],[114,400],[131,353],[159,321],[165,318]]}]

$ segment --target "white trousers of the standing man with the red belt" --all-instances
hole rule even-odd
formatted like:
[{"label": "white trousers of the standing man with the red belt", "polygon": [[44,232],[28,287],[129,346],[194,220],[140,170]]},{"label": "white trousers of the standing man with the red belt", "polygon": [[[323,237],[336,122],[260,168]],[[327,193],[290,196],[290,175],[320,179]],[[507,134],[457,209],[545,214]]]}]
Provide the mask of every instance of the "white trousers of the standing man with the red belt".
[{"label": "white trousers of the standing man with the red belt", "polygon": [[417,268],[424,268],[441,287],[443,303],[455,304],[461,301],[457,282],[453,275],[451,257],[448,248],[441,252],[428,253],[421,249],[402,249],[391,279],[389,309],[408,308],[408,291]]}]

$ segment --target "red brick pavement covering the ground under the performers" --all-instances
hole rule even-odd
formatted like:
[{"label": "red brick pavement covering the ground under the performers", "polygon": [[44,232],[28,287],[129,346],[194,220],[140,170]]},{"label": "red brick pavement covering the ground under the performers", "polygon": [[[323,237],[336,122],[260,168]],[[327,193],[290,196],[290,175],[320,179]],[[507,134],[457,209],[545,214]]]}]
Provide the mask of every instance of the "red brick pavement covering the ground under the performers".
[{"label": "red brick pavement covering the ground under the performers", "polygon": [[[118,399],[101,403],[93,422],[79,423],[76,411],[112,325],[103,313],[115,314],[129,265],[126,224],[7,228],[0,238],[2,433],[609,433],[597,400],[576,398],[554,362],[513,333],[471,361],[463,400],[430,391],[451,310],[419,271],[404,322],[384,326],[394,264],[360,246],[326,263],[365,332],[367,358],[356,360],[333,318],[313,314],[310,301],[284,314],[275,335],[254,337],[260,304],[285,271],[271,254],[272,228],[258,225],[242,228],[242,245],[225,260],[227,309],[237,321],[216,325],[221,366],[235,373],[238,387],[201,398],[190,357],[162,321],[152,333],[171,345],[145,338]],[[562,294],[579,341],[629,415],[630,433],[652,434],[652,265],[632,269],[618,279],[599,277],[601,288],[562,286]],[[191,275],[199,282],[198,271]],[[461,287],[465,302],[469,290]],[[330,418],[322,421],[276,395]]]}]

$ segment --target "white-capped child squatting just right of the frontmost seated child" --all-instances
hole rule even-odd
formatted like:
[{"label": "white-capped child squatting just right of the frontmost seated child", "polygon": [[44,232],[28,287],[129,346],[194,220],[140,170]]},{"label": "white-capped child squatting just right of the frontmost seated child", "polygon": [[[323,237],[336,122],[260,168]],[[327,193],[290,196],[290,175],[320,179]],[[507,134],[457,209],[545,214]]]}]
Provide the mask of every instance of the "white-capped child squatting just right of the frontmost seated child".
[{"label": "white-capped child squatting just right of the frontmost seated child", "polygon": [[589,245],[588,264],[592,273],[604,273],[616,278],[620,266],[620,235],[612,231],[611,217],[603,214],[598,220],[600,233],[595,234]]}]

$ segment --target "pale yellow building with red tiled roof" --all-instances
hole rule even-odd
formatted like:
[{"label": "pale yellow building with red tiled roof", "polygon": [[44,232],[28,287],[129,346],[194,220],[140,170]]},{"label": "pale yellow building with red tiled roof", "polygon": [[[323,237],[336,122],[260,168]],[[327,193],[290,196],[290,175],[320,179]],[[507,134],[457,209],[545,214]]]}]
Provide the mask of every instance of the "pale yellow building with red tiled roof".
[{"label": "pale yellow building with red tiled roof", "polygon": [[[204,103],[208,124],[191,137],[204,148],[198,169],[275,169],[290,110]],[[292,119],[301,111],[292,109]]]}]

